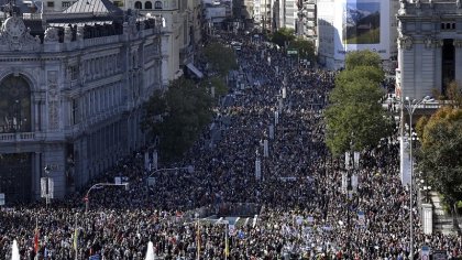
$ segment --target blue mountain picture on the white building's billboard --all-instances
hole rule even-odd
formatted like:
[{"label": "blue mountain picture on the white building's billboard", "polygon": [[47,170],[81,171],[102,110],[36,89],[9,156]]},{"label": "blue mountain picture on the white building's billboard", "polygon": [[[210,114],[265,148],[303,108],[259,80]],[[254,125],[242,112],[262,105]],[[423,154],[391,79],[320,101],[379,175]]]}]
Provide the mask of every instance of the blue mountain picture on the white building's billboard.
[{"label": "blue mountain picture on the white building's billboard", "polygon": [[381,3],[348,1],[344,6],[343,44],[381,42]]}]

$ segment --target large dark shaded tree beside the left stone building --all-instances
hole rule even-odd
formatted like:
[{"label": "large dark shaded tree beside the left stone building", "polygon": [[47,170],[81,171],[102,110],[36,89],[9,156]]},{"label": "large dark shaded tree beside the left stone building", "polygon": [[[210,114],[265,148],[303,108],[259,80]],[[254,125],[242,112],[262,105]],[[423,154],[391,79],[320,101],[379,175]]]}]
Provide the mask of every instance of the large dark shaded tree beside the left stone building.
[{"label": "large dark shaded tree beside the left stone building", "polygon": [[164,94],[157,91],[144,105],[142,128],[158,137],[161,156],[166,161],[184,154],[211,119],[207,89],[179,78]]}]

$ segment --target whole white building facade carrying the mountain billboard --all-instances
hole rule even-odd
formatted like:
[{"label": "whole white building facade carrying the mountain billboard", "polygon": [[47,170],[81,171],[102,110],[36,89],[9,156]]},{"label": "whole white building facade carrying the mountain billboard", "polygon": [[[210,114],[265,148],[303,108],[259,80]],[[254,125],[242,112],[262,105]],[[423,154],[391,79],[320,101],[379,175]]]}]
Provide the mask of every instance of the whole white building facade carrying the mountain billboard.
[{"label": "whole white building facade carrying the mountain billboard", "polygon": [[344,67],[348,52],[371,50],[386,67],[396,58],[397,0],[317,0],[318,57],[330,69]]}]

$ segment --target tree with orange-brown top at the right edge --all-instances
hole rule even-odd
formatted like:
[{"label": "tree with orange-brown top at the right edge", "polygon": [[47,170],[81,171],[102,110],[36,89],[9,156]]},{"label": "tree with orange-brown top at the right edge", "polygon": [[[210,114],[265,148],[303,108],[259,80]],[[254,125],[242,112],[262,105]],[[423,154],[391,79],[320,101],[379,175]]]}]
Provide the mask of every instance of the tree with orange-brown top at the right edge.
[{"label": "tree with orange-brown top at the right edge", "polygon": [[455,213],[462,199],[462,109],[442,107],[419,123],[419,169]]}]

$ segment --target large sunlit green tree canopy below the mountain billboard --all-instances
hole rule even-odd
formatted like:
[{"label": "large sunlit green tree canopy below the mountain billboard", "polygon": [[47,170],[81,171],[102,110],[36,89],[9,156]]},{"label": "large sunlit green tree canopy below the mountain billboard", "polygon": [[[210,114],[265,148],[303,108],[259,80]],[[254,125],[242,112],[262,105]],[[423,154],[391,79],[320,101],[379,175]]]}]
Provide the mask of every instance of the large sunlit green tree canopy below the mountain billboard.
[{"label": "large sunlit green tree canopy below the mountain billboard", "polygon": [[375,147],[392,133],[393,120],[380,102],[383,79],[382,68],[371,65],[350,66],[337,76],[324,112],[326,143],[332,154]]}]

